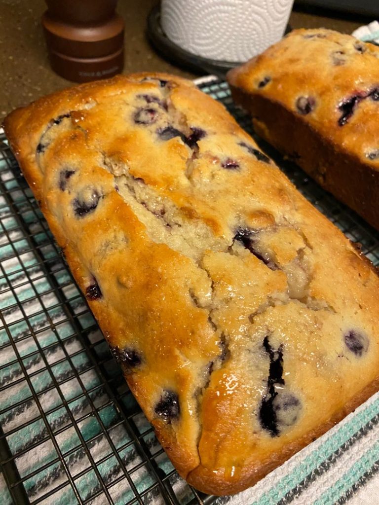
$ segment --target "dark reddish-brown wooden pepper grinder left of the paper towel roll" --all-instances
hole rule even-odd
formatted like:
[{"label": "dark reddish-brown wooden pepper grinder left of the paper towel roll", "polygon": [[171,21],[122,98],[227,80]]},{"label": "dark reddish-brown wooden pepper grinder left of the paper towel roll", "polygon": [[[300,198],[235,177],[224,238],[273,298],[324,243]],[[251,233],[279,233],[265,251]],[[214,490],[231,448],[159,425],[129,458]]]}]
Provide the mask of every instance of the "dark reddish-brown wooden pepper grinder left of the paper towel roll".
[{"label": "dark reddish-brown wooden pepper grinder left of the paper towel roll", "polygon": [[46,0],[42,25],[52,69],[86,82],[122,72],[124,21],[117,0]]}]

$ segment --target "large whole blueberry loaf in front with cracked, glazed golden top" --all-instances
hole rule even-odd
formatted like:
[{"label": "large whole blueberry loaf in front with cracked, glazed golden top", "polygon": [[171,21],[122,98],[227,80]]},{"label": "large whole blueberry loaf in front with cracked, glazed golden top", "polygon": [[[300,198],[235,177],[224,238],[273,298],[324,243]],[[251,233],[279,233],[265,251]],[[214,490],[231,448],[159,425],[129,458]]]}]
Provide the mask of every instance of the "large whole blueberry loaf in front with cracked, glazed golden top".
[{"label": "large whole blueberry loaf in front with cracked, glazed golden top", "polygon": [[135,74],[5,122],[180,475],[240,491],[379,387],[379,278],[211,97]]}]

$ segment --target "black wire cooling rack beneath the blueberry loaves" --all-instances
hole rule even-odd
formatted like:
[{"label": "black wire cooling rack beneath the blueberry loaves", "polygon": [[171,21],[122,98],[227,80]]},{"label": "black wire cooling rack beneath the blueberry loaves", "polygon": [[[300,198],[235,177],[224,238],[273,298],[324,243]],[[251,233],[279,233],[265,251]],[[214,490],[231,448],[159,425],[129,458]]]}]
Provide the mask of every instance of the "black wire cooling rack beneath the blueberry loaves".
[{"label": "black wire cooling rack beneath the blueberry loaves", "polygon": [[[225,82],[199,85],[248,131]],[[379,234],[264,142],[303,194],[379,264]],[[0,133],[0,502],[215,502],[173,469],[131,395]],[[3,491],[2,491],[3,490]]]}]

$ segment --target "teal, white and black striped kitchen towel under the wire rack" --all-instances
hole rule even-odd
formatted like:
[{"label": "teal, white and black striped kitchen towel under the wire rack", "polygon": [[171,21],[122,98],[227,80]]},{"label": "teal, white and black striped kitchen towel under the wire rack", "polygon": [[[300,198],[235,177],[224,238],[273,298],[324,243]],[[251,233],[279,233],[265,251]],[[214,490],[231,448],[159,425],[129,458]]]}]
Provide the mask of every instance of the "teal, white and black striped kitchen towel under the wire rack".
[{"label": "teal, white and black striped kitchen towel under the wire rack", "polygon": [[[199,85],[248,126],[226,83]],[[0,142],[0,503],[200,503],[112,361],[1,133]],[[281,166],[379,264],[377,233]],[[374,395],[257,485],[215,503],[378,505],[378,422]]]}]

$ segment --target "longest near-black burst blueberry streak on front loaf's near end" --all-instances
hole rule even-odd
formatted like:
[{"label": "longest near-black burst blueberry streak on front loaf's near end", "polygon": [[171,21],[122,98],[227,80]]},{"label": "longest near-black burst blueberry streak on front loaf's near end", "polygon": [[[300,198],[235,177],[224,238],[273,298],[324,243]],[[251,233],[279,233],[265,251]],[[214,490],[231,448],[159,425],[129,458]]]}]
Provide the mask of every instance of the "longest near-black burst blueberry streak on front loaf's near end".
[{"label": "longest near-black burst blueberry streak on front loaf's near end", "polygon": [[278,349],[271,347],[268,336],[263,340],[263,348],[270,359],[269,375],[267,378],[267,393],[263,396],[259,409],[260,423],[263,429],[270,432],[271,436],[279,435],[279,427],[275,411],[275,399],[277,390],[275,385],[285,383],[283,375],[283,350],[282,345]]}]

